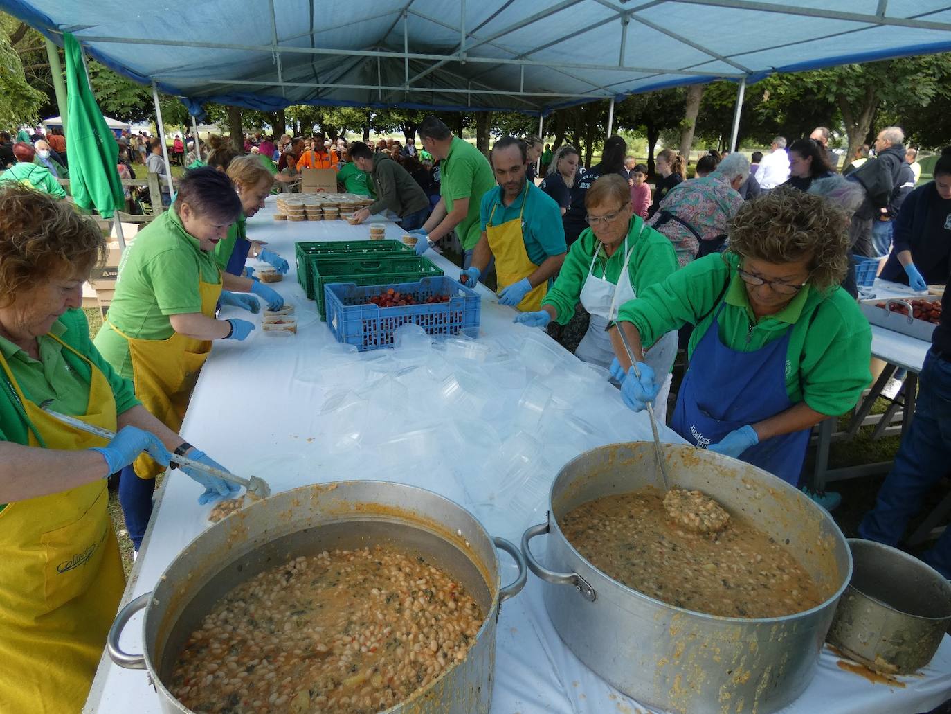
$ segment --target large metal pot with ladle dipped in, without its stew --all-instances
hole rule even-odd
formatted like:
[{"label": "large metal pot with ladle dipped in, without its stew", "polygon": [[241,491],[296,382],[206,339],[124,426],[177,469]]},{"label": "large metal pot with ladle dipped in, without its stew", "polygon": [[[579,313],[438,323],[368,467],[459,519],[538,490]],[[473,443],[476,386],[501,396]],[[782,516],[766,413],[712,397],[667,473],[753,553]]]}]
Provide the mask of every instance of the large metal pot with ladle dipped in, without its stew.
[{"label": "large metal pot with ladle dipped in, without its stew", "polygon": [[[705,714],[780,709],[812,679],[851,576],[844,536],[823,508],[766,471],[692,446],[664,445],[664,455],[671,486],[699,489],[786,541],[825,602],[779,618],[717,617],[654,600],[595,568],[561,532],[563,516],[601,496],[664,487],[652,443],[611,444],[561,469],[548,522],[522,538],[529,569],[551,584],[549,617],[582,662],[642,704]],[[529,548],[542,534],[549,535],[545,565]]]}]

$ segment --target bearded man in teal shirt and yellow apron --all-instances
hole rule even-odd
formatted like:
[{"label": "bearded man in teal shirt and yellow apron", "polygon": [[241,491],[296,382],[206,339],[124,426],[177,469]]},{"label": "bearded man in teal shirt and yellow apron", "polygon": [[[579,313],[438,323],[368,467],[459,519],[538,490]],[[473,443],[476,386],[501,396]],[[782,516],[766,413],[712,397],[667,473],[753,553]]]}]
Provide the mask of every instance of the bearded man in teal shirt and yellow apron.
[{"label": "bearded man in teal shirt and yellow apron", "polygon": [[561,210],[551,196],[527,179],[525,142],[503,136],[489,155],[498,188],[482,196],[482,233],[472,265],[462,274],[466,285],[475,288],[495,260],[499,305],[537,310],[568,250]]}]

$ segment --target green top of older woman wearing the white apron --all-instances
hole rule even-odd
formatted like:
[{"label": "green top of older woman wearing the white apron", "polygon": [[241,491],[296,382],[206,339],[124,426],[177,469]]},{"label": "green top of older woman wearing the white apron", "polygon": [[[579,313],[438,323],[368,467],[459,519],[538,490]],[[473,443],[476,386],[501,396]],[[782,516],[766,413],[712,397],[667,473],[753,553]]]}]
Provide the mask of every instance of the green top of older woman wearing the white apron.
[{"label": "green top of older woman wearing the white apron", "polygon": [[569,249],[558,279],[549,288],[541,304],[554,307],[558,312],[557,321],[567,325],[574,316],[574,307],[581,297],[581,288],[584,288],[588,275],[591,273],[617,285],[628,251],[631,251],[628,275],[634,294],[640,295],[650,286],[666,280],[677,269],[677,254],[673,244],[660,231],[650,227],[642,231],[642,228],[643,219],[632,216],[627,239],[610,257],[601,241],[594,237],[592,229],[585,228]]}]

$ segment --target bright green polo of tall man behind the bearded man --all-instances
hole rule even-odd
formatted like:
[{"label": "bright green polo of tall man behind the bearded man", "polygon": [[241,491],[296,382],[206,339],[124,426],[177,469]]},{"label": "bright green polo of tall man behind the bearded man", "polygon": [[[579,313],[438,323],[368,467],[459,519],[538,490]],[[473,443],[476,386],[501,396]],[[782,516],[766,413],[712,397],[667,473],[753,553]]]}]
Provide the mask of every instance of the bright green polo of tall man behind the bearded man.
[{"label": "bright green polo of tall man behind the bearded man", "polygon": [[446,211],[453,209],[453,202],[460,198],[469,199],[469,211],[456,226],[456,234],[462,242],[462,248],[476,248],[482,228],[479,225],[479,212],[482,196],[495,186],[495,174],[482,152],[472,144],[457,136],[449,145],[449,153],[440,165],[439,194],[446,203]]}]

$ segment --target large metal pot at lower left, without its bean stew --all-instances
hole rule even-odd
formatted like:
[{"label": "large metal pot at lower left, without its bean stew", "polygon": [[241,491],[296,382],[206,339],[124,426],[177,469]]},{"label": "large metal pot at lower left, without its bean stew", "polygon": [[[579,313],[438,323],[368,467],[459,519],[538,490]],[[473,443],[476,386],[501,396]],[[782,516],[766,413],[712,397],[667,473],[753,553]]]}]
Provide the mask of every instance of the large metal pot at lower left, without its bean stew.
[{"label": "large metal pot at lower left, without its bean stew", "polygon": [[[525,561],[518,548],[490,537],[461,506],[402,484],[343,481],[304,486],[232,514],[192,541],[168,565],[155,590],[120,611],[108,634],[109,656],[121,666],[148,670],[163,711],[190,711],[163,683],[170,680],[188,635],[225,594],[263,570],[298,556],[380,541],[406,547],[451,572],[486,613],[466,658],[387,712],[487,712],[498,608],[525,585]],[[500,584],[496,547],[512,555],[518,565],[511,585]],[[144,652],[128,654],[120,648],[119,638],[132,614],[143,608]]]}]

